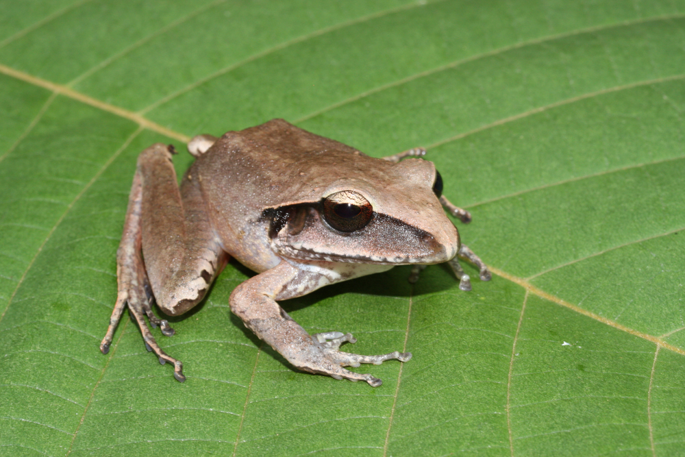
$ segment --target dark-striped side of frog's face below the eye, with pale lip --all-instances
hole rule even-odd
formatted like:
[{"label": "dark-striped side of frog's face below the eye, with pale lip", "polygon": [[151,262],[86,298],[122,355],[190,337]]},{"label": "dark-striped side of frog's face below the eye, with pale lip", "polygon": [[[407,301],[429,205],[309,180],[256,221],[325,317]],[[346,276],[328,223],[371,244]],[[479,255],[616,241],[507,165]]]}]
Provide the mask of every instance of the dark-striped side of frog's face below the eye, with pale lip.
[{"label": "dark-striped side of frog's face below the eye, with pale lip", "polygon": [[434,234],[374,212],[360,230],[340,232],[325,222],[316,206],[282,209],[272,218],[269,238],[280,256],[343,263],[436,264],[447,262],[459,249],[456,228]]}]

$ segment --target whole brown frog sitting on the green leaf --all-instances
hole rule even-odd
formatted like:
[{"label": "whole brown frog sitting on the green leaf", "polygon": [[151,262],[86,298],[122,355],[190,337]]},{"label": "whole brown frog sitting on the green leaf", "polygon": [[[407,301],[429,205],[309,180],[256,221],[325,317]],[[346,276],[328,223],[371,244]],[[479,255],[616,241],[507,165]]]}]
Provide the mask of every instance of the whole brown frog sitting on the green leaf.
[{"label": "whole brown frog sitting on the green leaf", "polygon": [[423,148],[373,158],[273,119],[221,138],[196,136],[188,151],[195,161],[180,184],[173,146],[155,143],[138,156],[103,354],[127,308],[147,350],[184,382],[182,362],[152,334],[157,327],[165,336],[175,333],[153,304],[169,316],[188,312],[234,258],[257,273],[229,297],[249,330],[301,371],[376,387],[382,380],[346,367],[407,362],[412,354],[341,351],[343,343],[356,343],[351,333],[309,334],[278,302],[397,265],[411,265],[409,280],[416,282],[426,265],[448,262],[468,291],[462,259],[490,280],[443,207],[464,223],[471,214],[442,195],[442,177]]}]

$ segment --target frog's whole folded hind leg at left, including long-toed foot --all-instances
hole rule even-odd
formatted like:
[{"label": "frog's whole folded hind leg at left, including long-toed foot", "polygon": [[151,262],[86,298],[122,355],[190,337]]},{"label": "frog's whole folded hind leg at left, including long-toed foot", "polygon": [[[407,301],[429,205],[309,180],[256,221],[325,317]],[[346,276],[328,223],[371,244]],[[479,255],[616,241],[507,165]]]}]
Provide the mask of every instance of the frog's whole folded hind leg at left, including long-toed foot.
[{"label": "frog's whole folded hind leg at left, including long-toed foot", "polygon": [[138,156],[129,195],[123,235],[116,253],[118,293],[110,325],[100,345],[107,354],[124,308],[138,323],[148,351],[164,365],[174,365],[174,377],[183,382],[183,366],[159,347],[153,328],[174,334],[169,323],[155,317],[151,301],[170,315],[195,306],[226,262],[211,230],[199,189],[188,178],[179,189],[171,163],[173,148],[153,145]]}]

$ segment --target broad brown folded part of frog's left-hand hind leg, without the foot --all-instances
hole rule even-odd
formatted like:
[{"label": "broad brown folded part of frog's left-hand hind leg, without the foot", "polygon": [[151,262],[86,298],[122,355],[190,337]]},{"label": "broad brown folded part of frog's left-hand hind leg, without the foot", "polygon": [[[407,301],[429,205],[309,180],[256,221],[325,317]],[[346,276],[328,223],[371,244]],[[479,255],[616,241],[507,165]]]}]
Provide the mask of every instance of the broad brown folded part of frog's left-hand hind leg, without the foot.
[{"label": "broad brown folded part of frog's left-hand hind leg, without the foot", "polygon": [[179,189],[166,145],[140,153],[142,254],[157,304],[166,314],[182,314],[205,295],[226,256],[212,233],[196,183]]}]

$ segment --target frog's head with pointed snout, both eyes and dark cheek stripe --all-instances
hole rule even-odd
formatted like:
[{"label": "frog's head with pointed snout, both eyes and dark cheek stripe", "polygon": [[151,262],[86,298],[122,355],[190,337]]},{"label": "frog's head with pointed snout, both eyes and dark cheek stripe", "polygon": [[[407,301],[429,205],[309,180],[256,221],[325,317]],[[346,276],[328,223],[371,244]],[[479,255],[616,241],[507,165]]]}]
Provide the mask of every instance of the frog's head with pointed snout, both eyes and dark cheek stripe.
[{"label": "frog's head with pointed snout, both eyes and dark cheek stripe", "polygon": [[316,201],[268,212],[277,254],[373,264],[434,264],[456,255],[459,234],[438,201],[442,179],[432,162],[360,156],[345,174],[321,186]]}]

